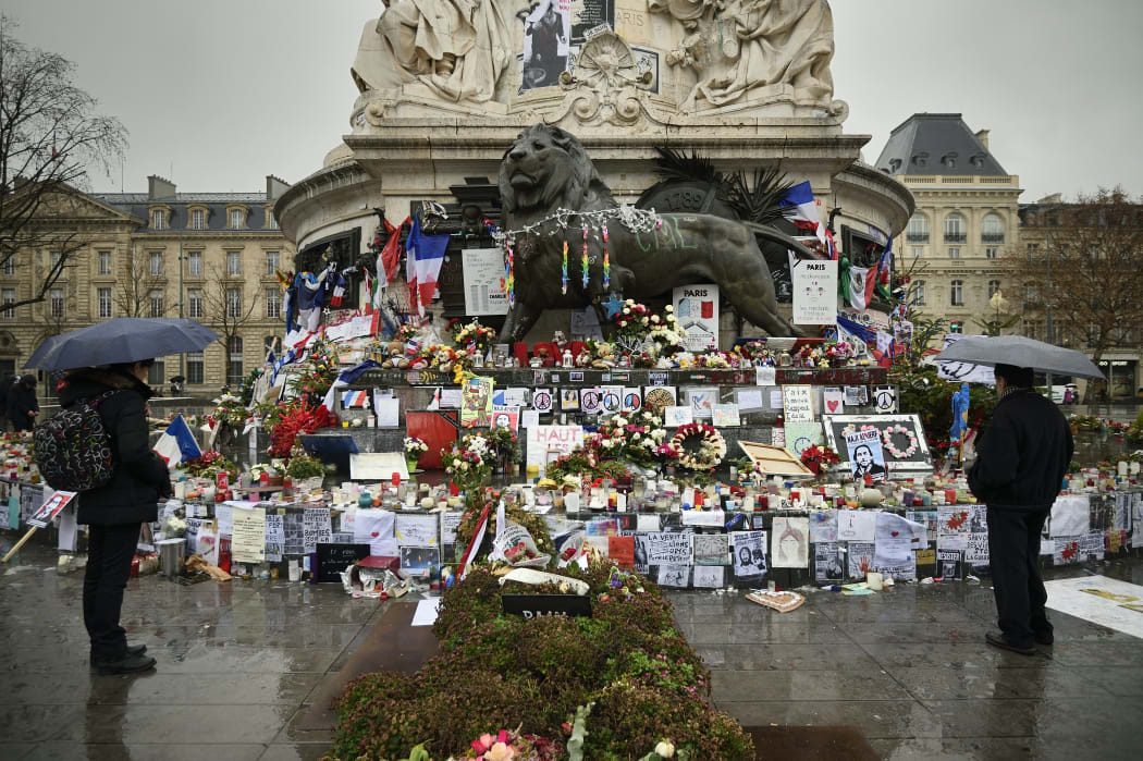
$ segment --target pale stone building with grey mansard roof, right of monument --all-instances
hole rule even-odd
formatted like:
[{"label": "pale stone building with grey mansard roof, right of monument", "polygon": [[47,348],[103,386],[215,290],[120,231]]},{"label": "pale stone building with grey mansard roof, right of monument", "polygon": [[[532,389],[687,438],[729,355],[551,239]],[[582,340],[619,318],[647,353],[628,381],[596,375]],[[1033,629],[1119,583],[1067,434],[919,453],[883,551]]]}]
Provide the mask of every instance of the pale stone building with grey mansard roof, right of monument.
[{"label": "pale stone building with grey mansard roof, right of monument", "polygon": [[[954,331],[1009,322],[1021,303],[1010,274],[1021,189],[989,151],[989,131],[974,133],[959,113],[913,114],[893,130],[877,168],[917,201],[894,241],[895,266],[912,278],[913,303]],[[993,299],[998,293],[1007,311]]]}]

